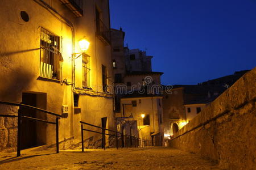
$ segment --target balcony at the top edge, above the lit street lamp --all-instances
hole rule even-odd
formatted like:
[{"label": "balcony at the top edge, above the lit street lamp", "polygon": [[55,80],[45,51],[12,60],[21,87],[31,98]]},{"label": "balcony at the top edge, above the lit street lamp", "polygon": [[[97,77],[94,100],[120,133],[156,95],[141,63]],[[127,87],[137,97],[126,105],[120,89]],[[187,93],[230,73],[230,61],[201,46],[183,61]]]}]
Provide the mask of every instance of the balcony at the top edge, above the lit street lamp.
[{"label": "balcony at the top edge, above the lit street lamp", "polygon": [[83,15],[82,0],[60,0],[63,5],[67,6],[76,17]]}]

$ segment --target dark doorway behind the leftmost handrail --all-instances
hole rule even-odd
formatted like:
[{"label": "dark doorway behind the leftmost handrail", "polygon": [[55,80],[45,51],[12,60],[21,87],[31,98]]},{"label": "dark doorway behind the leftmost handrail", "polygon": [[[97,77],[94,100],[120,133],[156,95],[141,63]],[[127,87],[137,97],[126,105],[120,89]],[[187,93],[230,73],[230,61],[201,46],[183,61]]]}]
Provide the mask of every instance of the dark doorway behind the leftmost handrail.
[{"label": "dark doorway behind the leftmost handrail", "polygon": [[[22,104],[46,109],[46,94],[27,93],[22,94]],[[22,116],[40,118],[46,120],[46,113],[20,107]],[[46,145],[46,123],[22,118],[21,148],[31,148]]]}]

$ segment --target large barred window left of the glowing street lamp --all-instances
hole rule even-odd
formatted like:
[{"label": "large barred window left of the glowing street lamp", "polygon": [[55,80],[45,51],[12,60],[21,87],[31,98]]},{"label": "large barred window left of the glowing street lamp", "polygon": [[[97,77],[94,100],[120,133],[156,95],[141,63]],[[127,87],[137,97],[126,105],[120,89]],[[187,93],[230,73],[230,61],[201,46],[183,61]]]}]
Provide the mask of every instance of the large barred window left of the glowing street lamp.
[{"label": "large barred window left of the glowing street lamp", "polygon": [[41,27],[40,76],[60,79],[60,37]]}]

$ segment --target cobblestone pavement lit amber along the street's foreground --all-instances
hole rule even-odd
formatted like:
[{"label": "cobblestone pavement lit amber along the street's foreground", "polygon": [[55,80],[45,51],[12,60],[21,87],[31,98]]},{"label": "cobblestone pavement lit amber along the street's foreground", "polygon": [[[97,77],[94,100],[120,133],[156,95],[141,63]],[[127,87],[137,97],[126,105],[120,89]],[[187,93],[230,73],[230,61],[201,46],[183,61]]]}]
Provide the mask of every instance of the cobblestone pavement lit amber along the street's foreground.
[{"label": "cobblestone pavement lit amber along the street's foreground", "polygon": [[[54,152],[54,151],[51,151]],[[14,158],[1,154],[0,169],[218,169],[217,165],[168,147],[123,148],[103,150],[22,151]]]}]

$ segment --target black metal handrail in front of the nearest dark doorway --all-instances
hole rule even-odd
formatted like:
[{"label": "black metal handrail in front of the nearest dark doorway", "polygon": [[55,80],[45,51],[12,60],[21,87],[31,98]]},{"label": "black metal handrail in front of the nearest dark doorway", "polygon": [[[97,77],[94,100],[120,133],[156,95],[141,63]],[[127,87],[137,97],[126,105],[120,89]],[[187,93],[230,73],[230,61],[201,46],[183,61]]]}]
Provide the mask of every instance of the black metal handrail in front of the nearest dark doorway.
[{"label": "black metal handrail in front of the nearest dark doorway", "polygon": [[22,118],[27,118],[27,119],[34,120],[34,121],[45,122],[45,123],[48,123],[48,124],[55,124],[55,126],[56,126],[56,153],[59,153],[59,117],[62,117],[61,115],[53,113],[53,112],[46,111],[44,109],[32,107],[31,105],[14,103],[14,102],[10,102],[10,101],[0,101],[0,104],[14,105],[14,106],[18,106],[18,107],[33,109],[33,110],[36,110],[36,111],[40,111],[40,112],[44,112],[44,113],[56,116],[55,122],[49,122],[49,121],[42,120],[42,119],[39,119],[39,118],[22,116],[22,113],[20,112],[20,109],[18,111],[18,116],[16,116],[16,115],[0,114],[0,117],[18,117],[17,157],[20,156],[20,150],[21,150],[21,125],[22,125],[22,121],[21,120],[22,120]]}]

